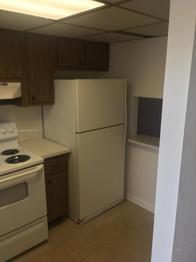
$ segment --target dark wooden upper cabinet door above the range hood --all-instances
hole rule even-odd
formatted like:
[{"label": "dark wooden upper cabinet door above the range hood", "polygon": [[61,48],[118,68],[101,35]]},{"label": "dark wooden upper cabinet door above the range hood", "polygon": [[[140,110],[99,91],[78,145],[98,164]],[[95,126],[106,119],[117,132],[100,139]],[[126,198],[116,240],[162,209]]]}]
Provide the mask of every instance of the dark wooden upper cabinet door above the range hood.
[{"label": "dark wooden upper cabinet door above the range hood", "polygon": [[0,78],[22,78],[21,33],[0,29]]}]

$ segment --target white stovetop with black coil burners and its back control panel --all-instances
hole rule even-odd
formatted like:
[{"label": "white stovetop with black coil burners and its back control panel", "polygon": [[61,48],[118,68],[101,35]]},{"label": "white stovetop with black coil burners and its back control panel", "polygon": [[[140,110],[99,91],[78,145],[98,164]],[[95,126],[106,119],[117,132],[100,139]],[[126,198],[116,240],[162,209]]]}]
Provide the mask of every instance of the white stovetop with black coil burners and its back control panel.
[{"label": "white stovetop with black coil burners and its back control panel", "polygon": [[[3,124],[6,126],[7,123]],[[16,129],[14,123],[9,124]],[[40,163],[43,163],[42,157],[18,146],[17,133],[3,134],[0,132],[0,176]]]}]

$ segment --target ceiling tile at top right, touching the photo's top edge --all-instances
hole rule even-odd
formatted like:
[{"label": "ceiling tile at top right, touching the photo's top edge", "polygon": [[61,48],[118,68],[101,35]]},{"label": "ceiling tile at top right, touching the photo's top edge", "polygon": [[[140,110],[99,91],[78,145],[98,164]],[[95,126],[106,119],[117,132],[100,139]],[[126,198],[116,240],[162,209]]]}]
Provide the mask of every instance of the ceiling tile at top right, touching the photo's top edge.
[{"label": "ceiling tile at top right, touching the photo's top edge", "polygon": [[132,0],[122,3],[120,6],[169,20],[170,0]]}]

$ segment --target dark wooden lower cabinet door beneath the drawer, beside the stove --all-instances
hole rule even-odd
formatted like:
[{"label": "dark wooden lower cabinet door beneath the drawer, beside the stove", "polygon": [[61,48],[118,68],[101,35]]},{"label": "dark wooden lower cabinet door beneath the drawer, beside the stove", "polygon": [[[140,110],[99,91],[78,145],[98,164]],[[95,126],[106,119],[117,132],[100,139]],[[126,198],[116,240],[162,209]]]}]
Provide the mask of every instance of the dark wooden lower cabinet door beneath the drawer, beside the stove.
[{"label": "dark wooden lower cabinet door beneath the drawer, beside the stove", "polygon": [[47,220],[51,222],[66,214],[67,190],[66,172],[45,178]]}]

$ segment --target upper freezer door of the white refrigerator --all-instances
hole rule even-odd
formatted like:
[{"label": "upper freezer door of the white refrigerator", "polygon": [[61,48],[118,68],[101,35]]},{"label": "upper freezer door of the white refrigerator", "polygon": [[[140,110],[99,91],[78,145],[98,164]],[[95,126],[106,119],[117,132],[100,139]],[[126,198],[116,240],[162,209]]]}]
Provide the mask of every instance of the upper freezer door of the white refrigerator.
[{"label": "upper freezer door of the white refrigerator", "polygon": [[75,80],[76,131],[126,123],[126,79]]}]

